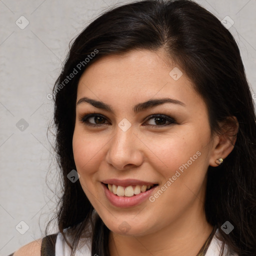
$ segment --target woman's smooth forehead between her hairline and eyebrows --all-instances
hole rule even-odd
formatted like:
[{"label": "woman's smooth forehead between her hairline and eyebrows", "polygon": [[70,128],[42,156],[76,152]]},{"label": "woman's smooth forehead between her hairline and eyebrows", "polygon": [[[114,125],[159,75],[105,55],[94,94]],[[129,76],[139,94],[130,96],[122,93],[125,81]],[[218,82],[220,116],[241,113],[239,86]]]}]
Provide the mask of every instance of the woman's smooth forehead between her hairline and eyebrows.
[{"label": "woman's smooth forehead between her hairline and eyebrows", "polygon": [[185,104],[202,100],[180,68],[168,64],[161,51],[149,50],[96,60],[79,79],[77,99],[84,96],[126,106],[157,97],[171,97]]}]

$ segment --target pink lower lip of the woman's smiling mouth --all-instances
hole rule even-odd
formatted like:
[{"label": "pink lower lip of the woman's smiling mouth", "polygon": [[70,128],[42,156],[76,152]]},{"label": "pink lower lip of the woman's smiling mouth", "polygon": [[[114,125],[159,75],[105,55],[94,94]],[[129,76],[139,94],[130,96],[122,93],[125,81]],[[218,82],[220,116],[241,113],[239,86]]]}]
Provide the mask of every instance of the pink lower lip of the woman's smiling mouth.
[{"label": "pink lower lip of the woman's smiling mouth", "polygon": [[153,192],[153,190],[157,187],[154,186],[150,188],[149,190],[146,190],[145,192],[141,192],[139,194],[135,194],[132,196],[118,196],[110,192],[110,190],[105,186],[105,184],[101,183],[104,189],[104,193],[106,198],[116,207],[120,208],[126,208],[126,207],[132,207],[135,205],[140,204],[144,200],[146,200],[150,194]]}]

